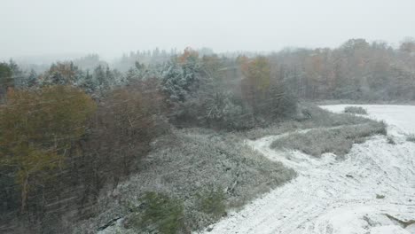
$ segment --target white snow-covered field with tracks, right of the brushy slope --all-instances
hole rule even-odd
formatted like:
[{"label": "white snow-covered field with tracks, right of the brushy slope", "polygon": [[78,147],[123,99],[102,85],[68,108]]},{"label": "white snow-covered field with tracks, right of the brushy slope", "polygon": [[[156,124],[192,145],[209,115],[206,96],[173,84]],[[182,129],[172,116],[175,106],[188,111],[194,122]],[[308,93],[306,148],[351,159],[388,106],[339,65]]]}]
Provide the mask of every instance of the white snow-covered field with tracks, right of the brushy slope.
[{"label": "white snow-covered field with tracks, right of the brushy slope", "polygon": [[[342,112],[345,106],[323,107]],[[359,106],[369,117],[388,123],[388,135],[396,144],[388,144],[385,136],[373,136],[355,144],[346,160],[336,161],[330,154],[316,159],[301,152],[270,150],[270,143],[280,136],[249,142],[271,160],[294,168],[299,176],[206,232],[415,233],[415,223],[407,225],[415,220],[415,143],[405,136],[415,134],[415,106]]]}]

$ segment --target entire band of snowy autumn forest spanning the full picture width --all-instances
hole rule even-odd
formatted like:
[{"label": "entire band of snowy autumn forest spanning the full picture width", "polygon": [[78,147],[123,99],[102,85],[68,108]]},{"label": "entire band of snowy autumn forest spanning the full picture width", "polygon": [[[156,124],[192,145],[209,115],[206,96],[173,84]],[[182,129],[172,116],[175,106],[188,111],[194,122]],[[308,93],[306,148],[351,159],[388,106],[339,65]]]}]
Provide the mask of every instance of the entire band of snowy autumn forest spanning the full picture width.
[{"label": "entire band of snowy autumn forest spanning the full picture width", "polygon": [[413,40],[270,54],[138,51],[112,65],[90,55],[22,67],[0,64],[4,231],[29,223],[53,233],[62,217],[96,215],[100,192],[137,173],[153,140],[172,129],[267,126],[292,118],[302,99],[415,99]]}]

